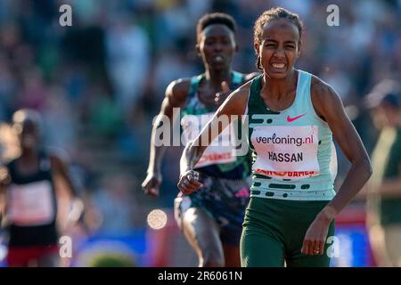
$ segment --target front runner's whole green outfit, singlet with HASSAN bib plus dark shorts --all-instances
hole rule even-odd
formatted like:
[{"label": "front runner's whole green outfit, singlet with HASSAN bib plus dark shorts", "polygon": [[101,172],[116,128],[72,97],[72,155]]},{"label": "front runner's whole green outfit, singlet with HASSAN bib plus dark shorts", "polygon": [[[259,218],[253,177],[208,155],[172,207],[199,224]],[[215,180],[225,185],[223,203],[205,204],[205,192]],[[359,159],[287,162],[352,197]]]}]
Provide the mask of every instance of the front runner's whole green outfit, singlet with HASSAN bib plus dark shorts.
[{"label": "front runner's whole green outfit, singlet with HASSAN bib plus dark shorts", "polygon": [[241,266],[329,266],[334,242],[331,221],[324,254],[301,253],[310,224],[335,196],[337,162],[329,126],[310,96],[312,75],[298,70],[291,107],[266,108],[263,75],[253,79],[246,118],[252,151],[252,185],[241,233]]}]

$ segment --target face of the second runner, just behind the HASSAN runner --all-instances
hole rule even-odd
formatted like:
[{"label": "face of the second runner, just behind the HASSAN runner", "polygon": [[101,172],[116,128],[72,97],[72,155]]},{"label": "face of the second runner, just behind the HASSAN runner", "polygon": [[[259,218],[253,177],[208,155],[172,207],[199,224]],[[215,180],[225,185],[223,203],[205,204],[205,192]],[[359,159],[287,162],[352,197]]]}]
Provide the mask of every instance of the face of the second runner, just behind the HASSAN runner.
[{"label": "face of the second runner, just behind the HASSAN runner", "polygon": [[237,47],[230,28],[222,24],[213,24],[203,29],[196,48],[203,63],[209,66],[209,69],[218,71],[230,69]]}]

